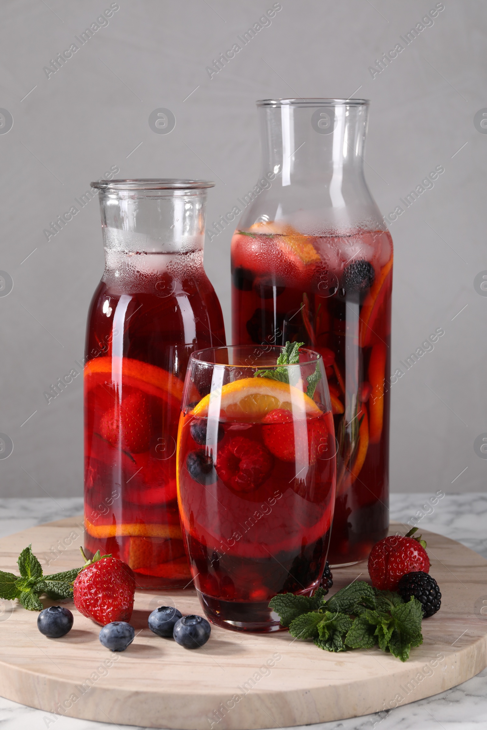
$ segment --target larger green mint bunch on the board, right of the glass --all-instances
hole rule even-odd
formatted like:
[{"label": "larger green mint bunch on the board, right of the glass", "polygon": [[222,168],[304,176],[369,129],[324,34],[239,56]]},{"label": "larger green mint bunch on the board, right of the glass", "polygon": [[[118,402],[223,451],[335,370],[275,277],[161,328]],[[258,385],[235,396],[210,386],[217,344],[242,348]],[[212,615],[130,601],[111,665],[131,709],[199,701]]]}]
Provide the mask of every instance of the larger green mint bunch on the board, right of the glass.
[{"label": "larger green mint bunch on the board, right of the glass", "polygon": [[326,600],[320,588],[312,597],[280,593],[269,607],[292,637],[313,639],[326,651],[372,649],[376,645],[401,661],[423,643],[423,610],[414,596],[404,603],[398,593],[378,591],[354,581]]}]

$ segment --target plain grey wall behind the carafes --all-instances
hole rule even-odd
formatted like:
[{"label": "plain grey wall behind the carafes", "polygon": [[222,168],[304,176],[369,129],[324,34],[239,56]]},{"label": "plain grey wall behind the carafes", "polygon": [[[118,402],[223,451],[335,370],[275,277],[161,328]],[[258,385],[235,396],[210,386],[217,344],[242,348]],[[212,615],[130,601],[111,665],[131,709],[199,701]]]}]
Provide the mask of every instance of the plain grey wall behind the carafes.
[{"label": "plain grey wall behind the carafes", "polygon": [[[487,298],[474,278],[487,269],[487,135],[474,115],[487,107],[487,6],[445,0],[434,25],[372,78],[369,66],[434,0],[281,2],[272,24],[211,80],[206,66],[272,1],[119,0],[109,24],[49,78],[43,67],[110,0],[2,2],[0,107],[13,126],[0,134],[0,269],[13,289],[0,297],[0,431],[14,449],[0,460],[1,496],[83,490],[81,377],[49,405],[43,392],[83,356],[103,271],[97,200],[49,242],[43,229],[111,166],[118,177],[215,180],[210,223],[258,174],[254,101],[285,96],[371,99],[366,172],[383,213],[445,167],[391,223],[393,371],[435,328],[445,330],[392,388],[391,488],[485,488],[487,461],[474,442],[487,431]],[[148,124],[160,107],[175,115],[171,134]],[[205,250],[227,337],[230,239],[224,231]]]}]

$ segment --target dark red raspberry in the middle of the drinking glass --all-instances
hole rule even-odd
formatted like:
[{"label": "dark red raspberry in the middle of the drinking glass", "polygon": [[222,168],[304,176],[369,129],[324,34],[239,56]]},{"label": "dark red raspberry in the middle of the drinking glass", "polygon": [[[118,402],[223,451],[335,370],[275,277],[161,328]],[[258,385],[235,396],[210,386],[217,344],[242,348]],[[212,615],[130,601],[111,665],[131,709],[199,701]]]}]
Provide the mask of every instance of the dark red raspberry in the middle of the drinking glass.
[{"label": "dark red raspberry in the middle of the drinking glass", "polygon": [[218,450],[215,469],[218,477],[237,492],[251,492],[272,472],[274,459],[256,441],[238,436]]}]

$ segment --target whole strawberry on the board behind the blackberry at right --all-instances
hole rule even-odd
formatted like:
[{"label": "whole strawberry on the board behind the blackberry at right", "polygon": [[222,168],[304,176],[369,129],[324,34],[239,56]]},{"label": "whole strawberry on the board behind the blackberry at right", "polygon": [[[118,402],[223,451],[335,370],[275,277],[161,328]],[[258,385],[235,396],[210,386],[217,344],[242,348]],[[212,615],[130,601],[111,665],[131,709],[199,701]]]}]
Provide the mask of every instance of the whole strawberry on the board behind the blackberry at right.
[{"label": "whole strawberry on the board behind the blackberry at right", "polygon": [[376,542],[369,555],[369,576],[372,585],[380,591],[396,591],[399,580],[407,573],[418,570],[429,572],[426,542],[411,537],[417,527],[407,535],[389,535]]}]

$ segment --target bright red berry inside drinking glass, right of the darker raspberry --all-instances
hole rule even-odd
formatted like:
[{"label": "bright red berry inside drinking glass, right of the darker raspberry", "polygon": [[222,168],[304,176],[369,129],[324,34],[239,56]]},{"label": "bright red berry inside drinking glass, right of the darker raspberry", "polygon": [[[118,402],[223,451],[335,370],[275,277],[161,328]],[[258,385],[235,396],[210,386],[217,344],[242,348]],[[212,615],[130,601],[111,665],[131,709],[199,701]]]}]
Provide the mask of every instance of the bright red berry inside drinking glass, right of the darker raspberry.
[{"label": "bright red berry inside drinking glass, right of the darker raspberry", "polygon": [[[294,439],[302,439],[303,447],[308,450],[310,464],[314,464],[321,453],[320,446],[328,442],[329,431],[321,418],[310,418],[296,421],[291,411],[275,408],[263,418],[262,438],[269,451],[281,461],[295,461],[296,448]],[[295,426],[298,425],[295,430]],[[305,443],[304,440],[307,442]],[[323,450],[323,447],[322,447]],[[300,449],[298,449],[299,453]]]}]

